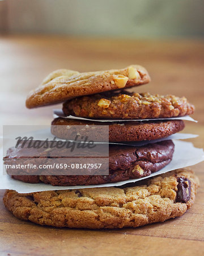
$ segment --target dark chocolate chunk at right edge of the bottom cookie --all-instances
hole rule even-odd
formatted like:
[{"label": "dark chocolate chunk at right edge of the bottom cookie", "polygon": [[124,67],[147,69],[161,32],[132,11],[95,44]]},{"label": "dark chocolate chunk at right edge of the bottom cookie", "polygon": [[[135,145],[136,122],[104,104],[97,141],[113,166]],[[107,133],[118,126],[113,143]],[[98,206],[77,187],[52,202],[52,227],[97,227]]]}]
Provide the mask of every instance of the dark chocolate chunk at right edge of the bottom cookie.
[{"label": "dark chocolate chunk at right edge of the bottom cookie", "polygon": [[181,203],[186,203],[190,199],[190,180],[185,177],[178,177],[177,182],[177,195],[176,201]]}]

